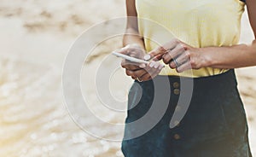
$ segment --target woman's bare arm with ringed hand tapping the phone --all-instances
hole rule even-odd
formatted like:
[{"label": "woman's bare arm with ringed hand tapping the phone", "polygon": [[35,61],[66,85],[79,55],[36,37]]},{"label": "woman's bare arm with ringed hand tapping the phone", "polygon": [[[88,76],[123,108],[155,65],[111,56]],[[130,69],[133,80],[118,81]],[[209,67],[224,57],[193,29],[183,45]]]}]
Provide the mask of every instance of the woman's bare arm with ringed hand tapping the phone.
[{"label": "woman's bare arm with ringed hand tapping the phone", "polygon": [[[150,57],[161,56],[177,72],[201,67],[236,68],[256,66],[256,1],[247,0],[248,16],[253,28],[252,44],[226,47],[194,48],[178,39],[149,52]],[[166,50],[171,49],[171,50]]]}]

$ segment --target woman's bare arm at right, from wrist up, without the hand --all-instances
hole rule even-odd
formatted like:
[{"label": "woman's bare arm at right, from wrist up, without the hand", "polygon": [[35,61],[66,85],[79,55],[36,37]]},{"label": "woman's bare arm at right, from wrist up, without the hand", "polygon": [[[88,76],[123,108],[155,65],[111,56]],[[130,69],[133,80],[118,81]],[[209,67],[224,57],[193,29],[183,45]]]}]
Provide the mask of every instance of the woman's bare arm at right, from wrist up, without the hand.
[{"label": "woman's bare arm at right, from wrist up, without the hand", "polygon": [[236,68],[256,66],[256,1],[247,0],[250,24],[254,32],[254,40],[250,45],[240,44],[231,47],[205,48],[207,67]]}]

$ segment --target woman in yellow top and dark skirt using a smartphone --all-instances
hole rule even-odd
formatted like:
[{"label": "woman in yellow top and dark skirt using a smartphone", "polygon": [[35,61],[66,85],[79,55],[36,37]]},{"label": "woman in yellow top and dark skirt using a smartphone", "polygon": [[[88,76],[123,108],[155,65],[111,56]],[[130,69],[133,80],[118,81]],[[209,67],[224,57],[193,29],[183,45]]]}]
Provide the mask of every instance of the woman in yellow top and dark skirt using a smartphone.
[{"label": "woman in yellow top and dark skirt using a smartphone", "polygon": [[[255,35],[254,0],[126,0],[127,16],[134,18],[127,18],[125,47],[119,52],[153,60],[147,65],[122,61],[126,74],[136,79],[128,97],[122,142],[125,156],[252,156],[246,114],[233,70],[256,66],[256,40],[250,45],[238,44],[245,4]],[[148,20],[164,28],[151,25]],[[168,38],[160,29],[167,29],[176,38]],[[156,38],[160,46],[153,42],[154,37],[160,37]],[[178,105],[187,88],[183,78],[194,82],[189,108]],[[161,96],[157,96],[159,93]],[[154,102],[162,107],[166,100],[166,111],[157,124],[140,136],[134,135],[143,126],[128,125],[141,119]],[[170,127],[172,116],[178,111],[185,114]],[[156,110],[156,117],[158,113]],[[144,127],[147,125],[146,121]]]}]

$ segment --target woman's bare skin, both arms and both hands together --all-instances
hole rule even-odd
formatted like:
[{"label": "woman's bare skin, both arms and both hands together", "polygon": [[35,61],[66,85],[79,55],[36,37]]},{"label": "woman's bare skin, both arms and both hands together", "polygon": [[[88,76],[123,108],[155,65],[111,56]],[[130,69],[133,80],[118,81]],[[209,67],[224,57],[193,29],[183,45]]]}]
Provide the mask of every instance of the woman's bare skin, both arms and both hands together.
[{"label": "woman's bare skin, both arms and both hands together", "polygon": [[[252,44],[237,44],[226,47],[195,48],[178,39],[145,53],[143,37],[139,35],[137,27],[137,11],[135,0],[126,0],[127,18],[126,35],[123,39],[125,48],[119,52],[137,58],[153,58],[148,65],[137,65],[131,61],[122,61],[122,67],[131,78],[147,81],[160,73],[163,60],[169,67],[181,73],[188,69],[201,67],[237,68],[256,66],[256,1],[247,0],[248,17],[254,33]],[[127,46],[128,45],[128,46]],[[174,61],[176,60],[176,61]]]}]

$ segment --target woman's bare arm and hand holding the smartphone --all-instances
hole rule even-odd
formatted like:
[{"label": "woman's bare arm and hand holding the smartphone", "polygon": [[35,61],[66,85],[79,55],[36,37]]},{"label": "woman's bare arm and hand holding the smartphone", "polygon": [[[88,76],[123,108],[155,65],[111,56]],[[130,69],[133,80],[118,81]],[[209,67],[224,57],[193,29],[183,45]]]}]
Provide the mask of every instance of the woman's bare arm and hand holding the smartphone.
[{"label": "woman's bare arm and hand holding the smartphone", "polygon": [[[143,58],[146,54],[143,37],[140,36],[138,31],[135,0],[126,0],[126,10],[127,26],[123,38],[124,48],[119,49],[118,52],[137,58]],[[147,81],[154,78],[163,68],[163,65],[156,61],[150,61],[147,65],[138,65],[134,62],[123,60],[121,66],[125,68],[125,72],[128,76],[138,81]]]}]

